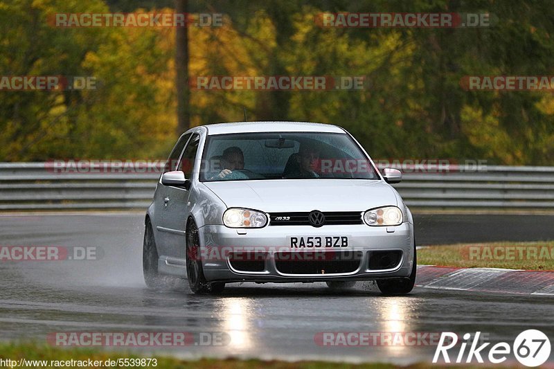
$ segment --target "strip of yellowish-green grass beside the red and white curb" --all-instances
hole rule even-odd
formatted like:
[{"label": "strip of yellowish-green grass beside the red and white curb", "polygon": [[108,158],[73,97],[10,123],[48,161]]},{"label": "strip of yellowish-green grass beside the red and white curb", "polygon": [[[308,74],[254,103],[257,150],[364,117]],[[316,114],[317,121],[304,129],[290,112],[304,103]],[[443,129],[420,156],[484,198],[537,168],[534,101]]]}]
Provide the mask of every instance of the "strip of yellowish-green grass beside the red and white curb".
[{"label": "strip of yellowish-green grass beside the red and white curb", "polygon": [[418,264],[554,271],[554,242],[493,242],[429,246],[418,250]]}]

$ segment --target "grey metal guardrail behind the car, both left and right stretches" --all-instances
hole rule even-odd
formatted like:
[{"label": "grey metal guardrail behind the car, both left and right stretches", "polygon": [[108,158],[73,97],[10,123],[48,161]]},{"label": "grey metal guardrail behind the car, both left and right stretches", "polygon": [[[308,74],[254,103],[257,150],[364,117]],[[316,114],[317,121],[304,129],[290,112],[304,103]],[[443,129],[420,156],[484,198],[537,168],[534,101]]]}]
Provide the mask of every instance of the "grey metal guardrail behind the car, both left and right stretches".
[{"label": "grey metal guardrail behind the car, both left and right stretches", "polygon": [[[57,172],[51,163],[0,163],[0,210],[145,209],[159,170]],[[407,168],[395,186],[414,208],[554,209],[554,167]]]}]

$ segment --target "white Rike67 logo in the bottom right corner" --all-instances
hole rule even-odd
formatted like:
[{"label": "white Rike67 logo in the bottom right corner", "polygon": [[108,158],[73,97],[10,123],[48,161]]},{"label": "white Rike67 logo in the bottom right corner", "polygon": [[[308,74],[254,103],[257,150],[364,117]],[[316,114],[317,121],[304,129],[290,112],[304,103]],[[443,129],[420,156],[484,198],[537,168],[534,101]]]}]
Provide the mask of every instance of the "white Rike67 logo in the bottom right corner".
[{"label": "white Rike67 logo in the bottom right corner", "polygon": [[[458,335],[453,332],[443,332],[435,350],[433,363],[437,363],[441,356],[445,363],[450,363],[449,354],[454,354],[456,356],[452,357],[452,360],[456,363],[474,363],[474,360],[478,363],[484,363],[483,357],[485,357],[490,363],[498,364],[506,361],[508,355],[513,353],[522,365],[535,367],[542,365],[550,357],[550,340],[548,340],[546,334],[539,330],[521,332],[511,347],[506,342],[499,342],[490,346],[490,342],[482,343],[483,340],[480,339],[480,336],[481,332],[475,332],[473,339],[470,333],[464,334],[456,355],[454,346],[458,344]],[[466,354],[467,346],[470,346],[470,348]],[[485,354],[487,351],[488,354]]]}]

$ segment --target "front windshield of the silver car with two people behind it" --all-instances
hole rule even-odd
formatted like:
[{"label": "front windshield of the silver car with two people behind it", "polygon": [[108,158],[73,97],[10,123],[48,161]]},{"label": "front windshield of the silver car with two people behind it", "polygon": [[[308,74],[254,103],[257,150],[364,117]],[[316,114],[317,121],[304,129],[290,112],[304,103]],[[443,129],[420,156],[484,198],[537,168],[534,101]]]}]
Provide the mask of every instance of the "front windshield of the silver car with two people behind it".
[{"label": "front windshield of the silver car with two people behind it", "polygon": [[348,134],[262,132],[208,136],[200,181],[379,179]]}]

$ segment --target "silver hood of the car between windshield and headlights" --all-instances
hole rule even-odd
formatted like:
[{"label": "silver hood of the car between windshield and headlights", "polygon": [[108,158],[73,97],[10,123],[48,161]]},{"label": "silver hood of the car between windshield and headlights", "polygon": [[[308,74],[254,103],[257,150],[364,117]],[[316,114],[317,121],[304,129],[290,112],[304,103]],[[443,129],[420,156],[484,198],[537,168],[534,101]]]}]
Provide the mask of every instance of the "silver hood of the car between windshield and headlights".
[{"label": "silver hood of the car between windshield and headlights", "polygon": [[277,179],[204,182],[228,208],[267,213],[284,211],[364,211],[397,205],[391,186],[364,179]]}]

